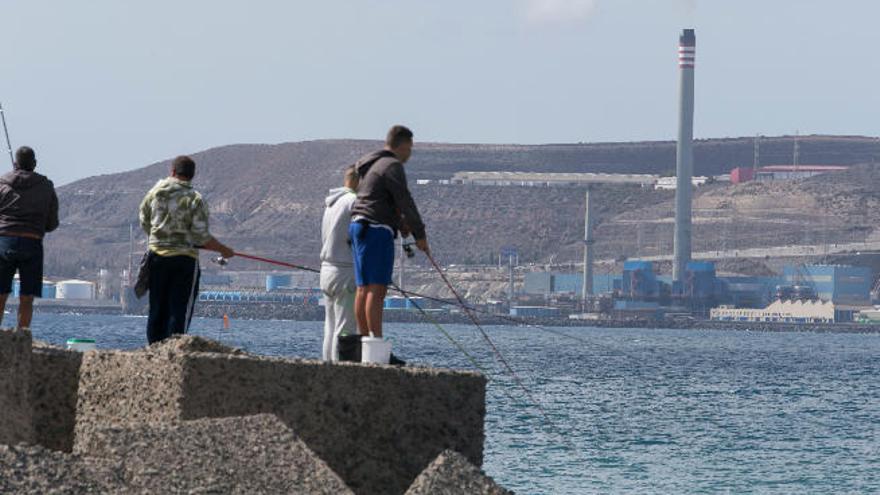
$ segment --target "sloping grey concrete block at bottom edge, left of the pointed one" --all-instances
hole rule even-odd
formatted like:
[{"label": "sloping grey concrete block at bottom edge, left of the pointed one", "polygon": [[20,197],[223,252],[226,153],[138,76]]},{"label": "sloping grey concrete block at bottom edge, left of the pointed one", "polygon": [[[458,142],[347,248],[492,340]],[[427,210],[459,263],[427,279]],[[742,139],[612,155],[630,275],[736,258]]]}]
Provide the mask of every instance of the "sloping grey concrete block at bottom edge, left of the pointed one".
[{"label": "sloping grey concrete block at bottom edge, left of the pointed one", "polygon": [[97,427],[90,438],[89,456],[119,460],[126,486],[139,493],[353,495],[270,414]]}]

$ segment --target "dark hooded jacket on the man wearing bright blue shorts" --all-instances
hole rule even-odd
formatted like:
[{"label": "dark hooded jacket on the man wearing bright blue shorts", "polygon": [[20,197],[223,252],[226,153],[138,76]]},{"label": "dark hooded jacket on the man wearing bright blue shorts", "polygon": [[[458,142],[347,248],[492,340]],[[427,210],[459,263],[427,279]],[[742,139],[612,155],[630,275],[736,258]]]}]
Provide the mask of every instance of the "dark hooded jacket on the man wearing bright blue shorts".
[{"label": "dark hooded jacket on the man wearing bright blue shorts", "polygon": [[403,164],[394,153],[382,150],[364,156],[355,163],[360,176],[352,216],[362,216],[400,230],[401,220],[416,239],[425,238],[425,224],[406,186]]}]

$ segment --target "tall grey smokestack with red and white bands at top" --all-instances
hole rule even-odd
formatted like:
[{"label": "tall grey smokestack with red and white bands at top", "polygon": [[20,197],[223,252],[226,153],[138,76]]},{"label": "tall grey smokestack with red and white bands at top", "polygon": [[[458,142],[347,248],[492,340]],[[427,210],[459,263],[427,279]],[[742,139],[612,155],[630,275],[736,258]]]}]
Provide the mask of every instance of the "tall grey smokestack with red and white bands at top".
[{"label": "tall grey smokestack with red and white bands at top", "polygon": [[678,106],[678,145],[675,148],[675,238],[672,280],[684,279],[691,260],[691,180],[694,175],[694,57],[697,38],[693,29],[681,33],[678,68],[681,87]]}]

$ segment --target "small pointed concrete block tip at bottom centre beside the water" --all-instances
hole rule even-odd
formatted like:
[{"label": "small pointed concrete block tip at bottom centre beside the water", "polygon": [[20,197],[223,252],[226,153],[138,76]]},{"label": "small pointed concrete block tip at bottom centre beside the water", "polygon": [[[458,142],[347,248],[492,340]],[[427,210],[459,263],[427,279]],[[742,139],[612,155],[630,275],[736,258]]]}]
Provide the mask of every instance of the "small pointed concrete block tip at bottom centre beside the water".
[{"label": "small pointed concrete block tip at bottom centre beside the water", "polygon": [[509,495],[458,452],[447,450],[413,482],[406,495]]}]

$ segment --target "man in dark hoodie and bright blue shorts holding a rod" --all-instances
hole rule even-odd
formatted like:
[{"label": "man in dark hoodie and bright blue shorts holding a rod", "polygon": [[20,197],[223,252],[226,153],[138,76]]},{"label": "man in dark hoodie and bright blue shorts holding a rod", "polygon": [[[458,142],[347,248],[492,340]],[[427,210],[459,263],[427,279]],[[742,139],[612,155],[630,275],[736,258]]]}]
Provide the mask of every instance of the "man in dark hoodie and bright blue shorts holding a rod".
[{"label": "man in dark hoodie and bright blue shorts holding a rod", "polygon": [[355,164],[360,184],[349,237],[357,283],[354,311],[361,335],[382,336],[382,307],[391,284],[397,233],[412,233],[416,246],[429,253],[425,225],[403,171],[412,146],[412,131],[396,125],[388,131],[384,149]]}]

